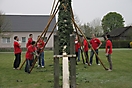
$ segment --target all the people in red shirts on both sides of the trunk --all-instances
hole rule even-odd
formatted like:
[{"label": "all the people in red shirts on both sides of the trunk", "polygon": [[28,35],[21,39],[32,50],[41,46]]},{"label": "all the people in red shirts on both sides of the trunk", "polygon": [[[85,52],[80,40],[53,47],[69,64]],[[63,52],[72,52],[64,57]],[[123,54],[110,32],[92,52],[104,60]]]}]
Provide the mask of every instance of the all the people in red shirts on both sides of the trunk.
[{"label": "all the people in red shirts on both sides of the trunk", "polygon": [[[106,57],[108,59],[109,62],[109,69],[108,71],[112,71],[112,60],[111,60],[111,54],[112,54],[112,42],[109,39],[110,36],[106,35],[104,36],[104,39],[106,40]],[[44,46],[45,46],[45,42],[44,39],[40,36],[38,36],[38,41],[35,42],[33,41],[33,34],[29,34],[29,38],[28,38],[28,42],[26,43],[26,54],[25,54],[25,58],[26,58],[26,65],[25,65],[25,72],[30,73],[29,69],[32,66],[32,63],[34,61],[34,55],[36,55],[38,57],[38,67],[44,67],[45,63],[44,63]],[[80,42],[82,40],[82,43]],[[96,52],[96,64],[100,65],[99,63],[99,59],[98,59],[98,52],[99,52],[99,48],[102,45],[102,42],[95,37],[94,34],[92,34],[92,39],[88,41],[82,37],[82,39],[79,40],[79,37],[76,36],[75,38],[75,53],[76,53],[76,58],[77,61],[80,61],[80,51],[83,49],[84,51],[84,55],[86,58],[86,63],[89,65],[93,64],[93,56]],[[89,50],[89,44],[91,46],[91,52],[90,52],[90,61],[89,61],[89,55],[88,55],[88,50]],[[15,54],[15,60],[14,60],[14,64],[13,64],[13,69],[19,69],[19,65],[21,63],[21,42],[19,42],[19,37],[18,36],[14,36],[14,54]]]}]

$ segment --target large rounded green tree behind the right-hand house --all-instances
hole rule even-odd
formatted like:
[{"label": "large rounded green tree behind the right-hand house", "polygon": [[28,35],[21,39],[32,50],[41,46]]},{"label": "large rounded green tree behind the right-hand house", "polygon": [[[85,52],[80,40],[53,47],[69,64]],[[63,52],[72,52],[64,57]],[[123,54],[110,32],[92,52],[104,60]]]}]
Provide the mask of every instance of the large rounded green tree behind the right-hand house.
[{"label": "large rounded green tree behind the right-hand house", "polygon": [[110,32],[113,29],[124,27],[122,15],[116,12],[109,12],[102,19],[102,27],[104,32]]}]

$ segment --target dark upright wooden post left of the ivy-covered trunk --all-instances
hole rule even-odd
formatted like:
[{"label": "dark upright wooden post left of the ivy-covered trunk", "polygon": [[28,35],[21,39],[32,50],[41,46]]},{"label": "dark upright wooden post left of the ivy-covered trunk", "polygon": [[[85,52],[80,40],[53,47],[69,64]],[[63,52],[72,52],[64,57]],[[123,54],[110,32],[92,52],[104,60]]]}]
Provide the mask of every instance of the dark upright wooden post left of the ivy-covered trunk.
[{"label": "dark upright wooden post left of the ivy-covered trunk", "polygon": [[[54,55],[59,55],[59,38],[54,35]],[[54,57],[54,88],[59,88],[59,57]]]}]

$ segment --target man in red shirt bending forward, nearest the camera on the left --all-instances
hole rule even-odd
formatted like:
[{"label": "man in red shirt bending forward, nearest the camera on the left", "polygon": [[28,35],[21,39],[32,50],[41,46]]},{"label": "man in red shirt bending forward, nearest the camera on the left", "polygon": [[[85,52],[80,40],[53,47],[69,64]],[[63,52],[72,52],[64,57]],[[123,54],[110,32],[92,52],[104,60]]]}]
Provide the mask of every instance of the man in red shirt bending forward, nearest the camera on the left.
[{"label": "man in red shirt bending forward, nearest the camera on the left", "polygon": [[35,47],[35,41],[32,41],[31,45],[28,46],[27,52],[26,52],[26,65],[25,65],[25,72],[30,73],[29,69],[30,66],[32,66],[32,60],[34,55],[38,54],[36,53],[36,47]]}]

